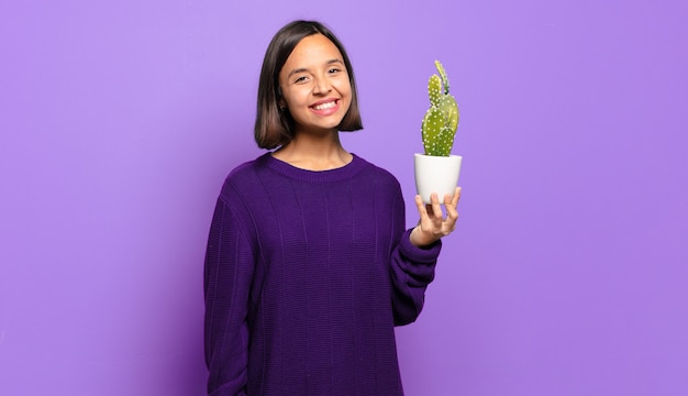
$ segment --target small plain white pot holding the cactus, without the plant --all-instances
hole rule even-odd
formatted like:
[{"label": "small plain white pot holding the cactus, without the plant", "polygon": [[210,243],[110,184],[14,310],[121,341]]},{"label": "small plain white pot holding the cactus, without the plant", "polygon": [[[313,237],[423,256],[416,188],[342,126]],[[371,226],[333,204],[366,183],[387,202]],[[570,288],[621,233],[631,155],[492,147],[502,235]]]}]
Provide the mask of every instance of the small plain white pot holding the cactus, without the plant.
[{"label": "small plain white pot holding the cactus, without the plant", "polygon": [[458,186],[458,174],[462,166],[460,155],[433,156],[414,154],[415,189],[430,204],[430,195],[437,193],[440,204],[444,205],[444,195],[454,195]]}]

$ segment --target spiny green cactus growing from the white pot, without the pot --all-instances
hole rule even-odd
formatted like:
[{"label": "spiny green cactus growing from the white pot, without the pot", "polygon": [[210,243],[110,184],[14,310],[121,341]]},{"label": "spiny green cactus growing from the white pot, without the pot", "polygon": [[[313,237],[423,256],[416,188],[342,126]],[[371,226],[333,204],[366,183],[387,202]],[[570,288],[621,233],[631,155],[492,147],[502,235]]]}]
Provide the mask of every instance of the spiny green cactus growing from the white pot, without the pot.
[{"label": "spiny green cactus growing from the white pot, without the pot", "polygon": [[458,106],[450,95],[450,79],[440,61],[435,61],[435,67],[440,75],[432,75],[428,81],[430,109],[423,118],[423,146],[425,155],[450,156],[458,127]]}]

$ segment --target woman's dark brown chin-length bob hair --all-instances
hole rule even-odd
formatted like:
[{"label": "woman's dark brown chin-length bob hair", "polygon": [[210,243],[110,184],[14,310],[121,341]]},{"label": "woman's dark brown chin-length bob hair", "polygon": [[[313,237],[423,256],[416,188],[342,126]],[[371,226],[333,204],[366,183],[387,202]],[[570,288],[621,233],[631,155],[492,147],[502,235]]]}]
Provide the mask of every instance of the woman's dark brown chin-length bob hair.
[{"label": "woman's dark brown chin-length bob hair", "polygon": [[275,148],[285,145],[293,139],[293,119],[288,111],[280,110],[281,90],[279,88],[279,72],[285,66],[287,58],[303,37],[322,34],[340,50],[344,58],[344,66],[348,74],[352,87],[352,102],[342,122],[337,125],[340,131],[358,131],[363,129],[360,111],[358,110],[358,97],[354,69],[344,45],[337,37],[320,22],[293,21],[280,29],[265,53],[260,79],[258,81],[258,106],[256,123],[254,128],[256,143],[260,148]]}]

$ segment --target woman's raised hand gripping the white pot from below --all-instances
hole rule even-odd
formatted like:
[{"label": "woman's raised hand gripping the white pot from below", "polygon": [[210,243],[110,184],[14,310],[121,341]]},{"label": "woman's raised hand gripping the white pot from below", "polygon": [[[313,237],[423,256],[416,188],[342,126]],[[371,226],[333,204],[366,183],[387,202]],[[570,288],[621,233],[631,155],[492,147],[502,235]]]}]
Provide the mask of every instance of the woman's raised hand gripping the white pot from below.
[{"label": "woman's raised hand gripping the white pot from below", "polygon": [[460,187],[456,187],[454,196],[444,195],[444,206],[446,208],[446,218],[443,218],[442,207],[437,194],[430,195],[430,205],[423,204],[420,196],[415,196],[415,206],[421,219],[418,226],[411,231],[411,243],[415,246],[423,248],[437,241],[442,237],[446,237],[456,228],[456,219],[458,212],[456,206],[460,197]]}]

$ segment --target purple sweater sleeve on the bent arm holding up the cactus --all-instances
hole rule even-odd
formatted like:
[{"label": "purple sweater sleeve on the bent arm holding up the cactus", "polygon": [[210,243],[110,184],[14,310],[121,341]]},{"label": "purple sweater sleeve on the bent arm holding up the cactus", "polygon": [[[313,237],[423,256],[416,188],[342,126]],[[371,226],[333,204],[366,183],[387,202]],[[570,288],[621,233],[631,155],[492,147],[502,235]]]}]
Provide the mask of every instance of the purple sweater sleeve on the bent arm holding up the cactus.
[{"label": "purple sweater sleeve on the bent arm holding up the cactus", "polygon": [[391,253],[392,309],[396,326],[415,321],[425,300],[425,289],[435,276],[435,264],[442,249],[437,241],[423,249],[411,243],[411,229],[404,230],[404,206],[401,194],[395,204],[393,234],[399,235]]}]

